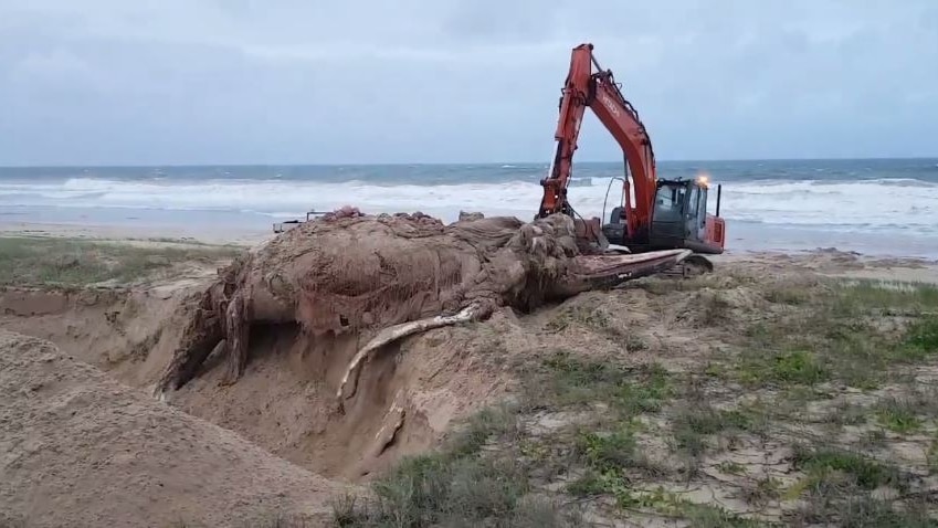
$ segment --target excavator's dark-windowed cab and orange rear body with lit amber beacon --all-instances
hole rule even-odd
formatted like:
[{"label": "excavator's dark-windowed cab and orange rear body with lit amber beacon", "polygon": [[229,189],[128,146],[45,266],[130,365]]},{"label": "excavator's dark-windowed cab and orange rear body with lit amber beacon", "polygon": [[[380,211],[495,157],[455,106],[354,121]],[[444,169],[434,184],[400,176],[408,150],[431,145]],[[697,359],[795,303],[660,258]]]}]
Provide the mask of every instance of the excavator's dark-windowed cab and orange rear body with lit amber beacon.
[{"label": "excavator's dark-windowed cab and orange rear body with lit amber beacon", "polygon": [[724,220],[719,218],[721,186],[717,186],[716,214],[707,212],[709,183],[705,177],[658,180],[652,208],[649,249],[687,249],[719,254],[724,249]]}]

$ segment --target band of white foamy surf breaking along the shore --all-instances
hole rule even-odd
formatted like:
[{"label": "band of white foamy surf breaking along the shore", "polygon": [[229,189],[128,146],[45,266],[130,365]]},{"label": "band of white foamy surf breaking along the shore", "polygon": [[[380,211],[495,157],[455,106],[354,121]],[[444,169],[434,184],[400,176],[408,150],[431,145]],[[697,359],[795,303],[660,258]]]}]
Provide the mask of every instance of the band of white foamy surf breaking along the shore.
[{"label": "band of white foamy surf breaking along the shore", "polygon": [[[600,215],[610,180],[591,178],[570,188],[570,199],[583,217]],[[591,183],[591,184],[590,184]],[[610,213],[621,198],[613,182]],[[308,180],[106,180],[0,181],[0,210],[6,205],[226,210],[271,218],[302,218],[309,210],[352,204],[367,212],[423,211],[454,220],[461,210],[513,214],[530,219],[540,202],[537,183],[460,183],[379,186],[362,181],[323,183]],[[716,205],[712,192],[709,209]],[[727,182],[721,214],[728,221],[814,226],[831,230],[938,233],[938,184],[909,179],[855,182]]]}]

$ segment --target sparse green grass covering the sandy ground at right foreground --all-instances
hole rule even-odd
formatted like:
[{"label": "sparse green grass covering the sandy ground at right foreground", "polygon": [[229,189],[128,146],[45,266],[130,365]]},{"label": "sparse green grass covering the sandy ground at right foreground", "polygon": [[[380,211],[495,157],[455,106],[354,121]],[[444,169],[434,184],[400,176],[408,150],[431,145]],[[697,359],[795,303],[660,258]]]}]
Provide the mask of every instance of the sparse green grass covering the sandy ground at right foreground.
[{"label": "sparse green grass covering the sandy ground at right foreground", "polygon": [[[739,285],[757,300],[739,303],[728,292]],[[715,329],[720,346],[689,368],[666,363],[670,350],[661,363],[542,353],[521,366],[512,405],[403,461],[375,482],[375,500],[337,513],[339,525],[576,526],[583,507],[600,519],[649,515],[705,528],[938,526],[920,487],[921,474],[938,474],[938,391],[913,376],[938,360],[935,287],[747,277],[635,286],[700,307],[674,324],[685,336]],[[545,329],[646,346],[615,314],[577,305]],[[538,427],[544,416],[554,425]],[[927,467],[890,457],[896,437],[923,436]],[[691,500],[675,483],[724,486],[748,508]],[[761,510],[771,521],[752,515]]]}]

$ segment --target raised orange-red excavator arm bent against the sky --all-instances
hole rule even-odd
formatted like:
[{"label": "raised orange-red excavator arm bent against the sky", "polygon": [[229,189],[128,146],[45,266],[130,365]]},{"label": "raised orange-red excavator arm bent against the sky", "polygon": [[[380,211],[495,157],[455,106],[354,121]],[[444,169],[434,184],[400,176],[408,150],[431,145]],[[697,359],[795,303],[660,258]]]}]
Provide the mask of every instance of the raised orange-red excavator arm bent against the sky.
[{"label": "raised orange-red excavator arm bent against the sky", "polygon": [[[586,108],[605,126],[622,148],[632,176],[635,203],[632,203],[629,180],[623,186],[624,212],[629,237],[647,232],[656,191],[655,159],[652,141],[639,118],[639,113],[625,99],[609,70],[602,70],[592,54],[592,44],[573,49],[570,71],[560,99],[560,117],[555,139],[557,151],[550,175],[541,180],[544,198],[538,217],[557,212],[572,215],[567,201],[567,187],[572,173],[573,152]],[[592,66],[598,70],[592,72]]]}]

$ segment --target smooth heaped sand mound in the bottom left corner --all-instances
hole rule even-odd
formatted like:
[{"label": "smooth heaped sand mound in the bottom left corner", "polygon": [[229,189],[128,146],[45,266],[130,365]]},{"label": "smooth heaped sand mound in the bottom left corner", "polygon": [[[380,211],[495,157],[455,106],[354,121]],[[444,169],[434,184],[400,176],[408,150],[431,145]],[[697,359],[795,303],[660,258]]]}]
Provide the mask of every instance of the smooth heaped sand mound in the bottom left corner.
[{"label": "smooth heaped sand mound in the bottom left corner", "polygon": [[48,341],[3,330],[0,399],[0,521],[242,526],[277,513],[324,519],[338,492]]}]

